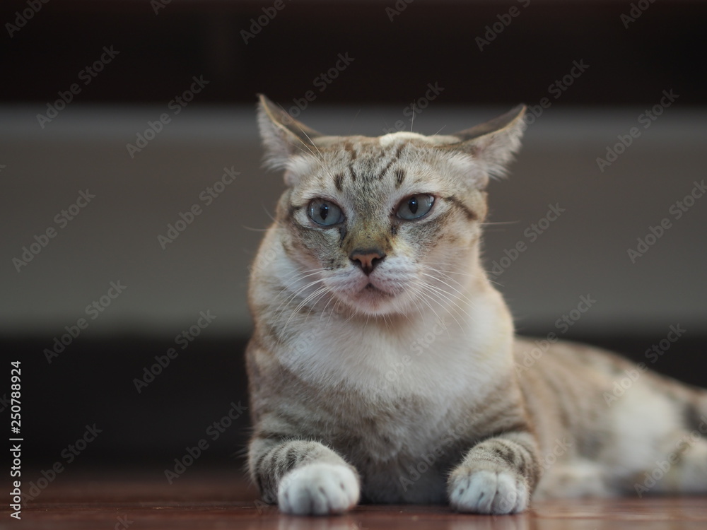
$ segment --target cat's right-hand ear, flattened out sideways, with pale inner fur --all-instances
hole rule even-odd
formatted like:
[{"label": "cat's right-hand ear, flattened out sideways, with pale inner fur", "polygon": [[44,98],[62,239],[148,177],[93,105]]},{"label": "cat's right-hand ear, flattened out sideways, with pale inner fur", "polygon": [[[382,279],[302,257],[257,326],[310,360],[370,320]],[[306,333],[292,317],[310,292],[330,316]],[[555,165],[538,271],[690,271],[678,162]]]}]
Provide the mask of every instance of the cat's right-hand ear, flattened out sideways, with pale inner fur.
[{"label": "cat's right-hand ear, flattened out sideways, with pale inner fur", "polygon": [[468,153],[482,163],[489,175],[501,176],[520,148],[520,138],[525,131],[524,115],[525,105],[518,105],[489,122],[450,135],[459,141],[443,148]]}]

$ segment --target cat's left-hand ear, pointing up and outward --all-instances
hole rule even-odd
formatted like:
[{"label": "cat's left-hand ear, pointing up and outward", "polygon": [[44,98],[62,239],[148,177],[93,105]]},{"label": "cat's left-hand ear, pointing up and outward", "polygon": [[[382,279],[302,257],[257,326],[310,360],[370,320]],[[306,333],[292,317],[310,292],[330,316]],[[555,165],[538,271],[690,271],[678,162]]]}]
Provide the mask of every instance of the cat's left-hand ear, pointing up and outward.
[{"label": "cat's left-hand ear, pointing up and outward", "polygon": [[298,122],[264,95],[259,94],[259,98],[258,126],[269,167],[284,167],[291,155],[315,151],[313,140],[322,134]]}]

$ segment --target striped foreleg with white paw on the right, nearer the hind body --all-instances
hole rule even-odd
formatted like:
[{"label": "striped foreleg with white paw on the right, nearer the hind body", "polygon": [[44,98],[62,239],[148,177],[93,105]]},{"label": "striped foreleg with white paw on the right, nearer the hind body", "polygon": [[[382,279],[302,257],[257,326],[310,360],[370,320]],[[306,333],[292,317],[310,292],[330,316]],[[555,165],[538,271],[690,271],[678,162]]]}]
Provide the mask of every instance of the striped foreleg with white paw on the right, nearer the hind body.
[{"label": "striped foreleg with white paw on the right, nearer the hind body", "polygon": [[469,449],[450,473],[450,505],[479,514],[522,512],[538,478],[537,444],[530,432],[504,433]]}]

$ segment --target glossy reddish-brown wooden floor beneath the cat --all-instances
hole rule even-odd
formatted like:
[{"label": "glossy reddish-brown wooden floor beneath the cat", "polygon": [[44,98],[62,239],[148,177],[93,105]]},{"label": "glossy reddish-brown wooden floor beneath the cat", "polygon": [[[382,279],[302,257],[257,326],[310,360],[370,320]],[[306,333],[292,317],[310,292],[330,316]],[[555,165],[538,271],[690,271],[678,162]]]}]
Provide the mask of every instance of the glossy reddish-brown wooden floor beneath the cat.
[{"label": "glossy reddish-brown wooden floor beneath the cat", "polygon": [[442,506],[361,506],[338,517],[291,517],[257,501],[233,472],[189,471],[170,485],[155,473],[57,476],[23,507],[4,503],[0,529],[610,530],[706,529],[707,497],[536,502],[524,514],[455,514]]}]

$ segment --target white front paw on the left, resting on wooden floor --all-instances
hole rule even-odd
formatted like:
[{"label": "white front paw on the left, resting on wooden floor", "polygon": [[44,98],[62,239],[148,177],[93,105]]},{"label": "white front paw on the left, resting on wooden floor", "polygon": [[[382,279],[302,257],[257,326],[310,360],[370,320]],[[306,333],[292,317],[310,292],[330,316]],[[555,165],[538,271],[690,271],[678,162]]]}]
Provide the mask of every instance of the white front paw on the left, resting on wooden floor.
[{"label": "white front paw on the left, resting on wooden floor", "polygon": [[356,505],[360,490],[356,474],[346,466],[307,464],[281,479],[277,503],[287,514],[340,514]]}]

